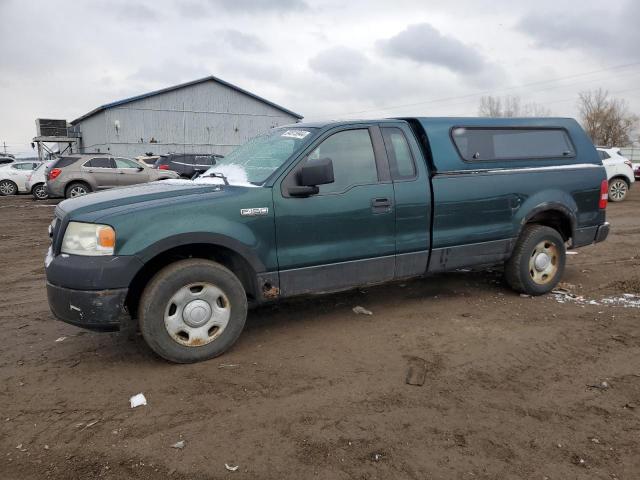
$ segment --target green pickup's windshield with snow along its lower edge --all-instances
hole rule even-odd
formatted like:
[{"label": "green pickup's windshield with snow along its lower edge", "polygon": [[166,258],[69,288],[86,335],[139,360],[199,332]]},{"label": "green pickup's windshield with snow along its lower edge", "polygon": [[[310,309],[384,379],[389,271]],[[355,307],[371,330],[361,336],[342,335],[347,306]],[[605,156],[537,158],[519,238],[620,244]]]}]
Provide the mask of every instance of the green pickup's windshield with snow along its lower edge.
[{"label": "green pickup's windshield with snow along its lower edge", "polygon": [[[205,172],[243,171],[246,181],[263,183],[269,175],[286,162],[291,155],[304,147],[313,137],[314,128],[284,127],[270,130],[240,145],[224,158],[216,159],[216,164]],[[229,179],[233,183],[231,178]]]}]

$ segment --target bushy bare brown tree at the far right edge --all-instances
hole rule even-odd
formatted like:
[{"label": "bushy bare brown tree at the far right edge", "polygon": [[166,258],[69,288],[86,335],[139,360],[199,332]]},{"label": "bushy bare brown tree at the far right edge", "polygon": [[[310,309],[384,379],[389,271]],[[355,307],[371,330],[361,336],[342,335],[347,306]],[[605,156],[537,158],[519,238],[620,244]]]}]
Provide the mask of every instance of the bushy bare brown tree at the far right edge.
[{"label": "bushy bare brown tree at the far right edge", "polygon": [[625,100],[611,98],[609,92],[599,88],[580,92],[578,107],[582,126],[595,145],[631,144],[638,117],[629,111]]}]

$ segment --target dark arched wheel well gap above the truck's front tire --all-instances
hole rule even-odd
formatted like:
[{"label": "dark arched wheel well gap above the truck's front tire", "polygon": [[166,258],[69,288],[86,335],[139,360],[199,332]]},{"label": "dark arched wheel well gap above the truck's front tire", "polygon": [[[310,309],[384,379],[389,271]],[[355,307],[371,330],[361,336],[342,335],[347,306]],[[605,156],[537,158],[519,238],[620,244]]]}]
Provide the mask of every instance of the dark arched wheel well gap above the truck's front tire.
[{"label": "dark arched wheel well gap above the truck's front tire", "polygon": [[181,245],[153,257],[133,278],[125,301],[132,317],[137,317],[140,296],[153,276],[167,265],[187,258],[203,258],[224,265],[238,277],[247,298],[256,298],[256,273],[242,255],[229,248],[207,243]]}]

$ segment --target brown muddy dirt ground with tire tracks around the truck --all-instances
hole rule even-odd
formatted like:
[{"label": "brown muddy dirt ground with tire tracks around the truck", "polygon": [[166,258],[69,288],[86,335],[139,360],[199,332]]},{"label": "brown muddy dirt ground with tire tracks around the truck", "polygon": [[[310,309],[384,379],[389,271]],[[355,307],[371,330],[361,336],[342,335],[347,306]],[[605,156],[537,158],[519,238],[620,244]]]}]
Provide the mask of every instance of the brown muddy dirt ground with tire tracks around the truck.
[{"label": "brown muddy dirt ground with tire tracks around the truck", "polygon": [[578,298],[472,272],[289,301],[186,366],[54,320],[53,203],[0,198],[2,479],[640,478],[640,188],[568,257]]}]

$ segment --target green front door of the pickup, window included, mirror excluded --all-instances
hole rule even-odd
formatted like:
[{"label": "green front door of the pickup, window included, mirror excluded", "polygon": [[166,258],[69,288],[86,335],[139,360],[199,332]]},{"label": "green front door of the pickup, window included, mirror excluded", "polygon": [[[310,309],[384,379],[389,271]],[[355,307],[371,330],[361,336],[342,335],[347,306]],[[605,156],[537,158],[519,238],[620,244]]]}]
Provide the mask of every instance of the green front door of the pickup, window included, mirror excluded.
[{"label": "green front door of the pickup, window included, mirror excluded", "polygon": [[[304,162],[331,158],[335,181],[317,195],[288,194]],[[380,129],[332,130],[274,187],[284,296],[390,280],[395,271],[393,185]]]}]

